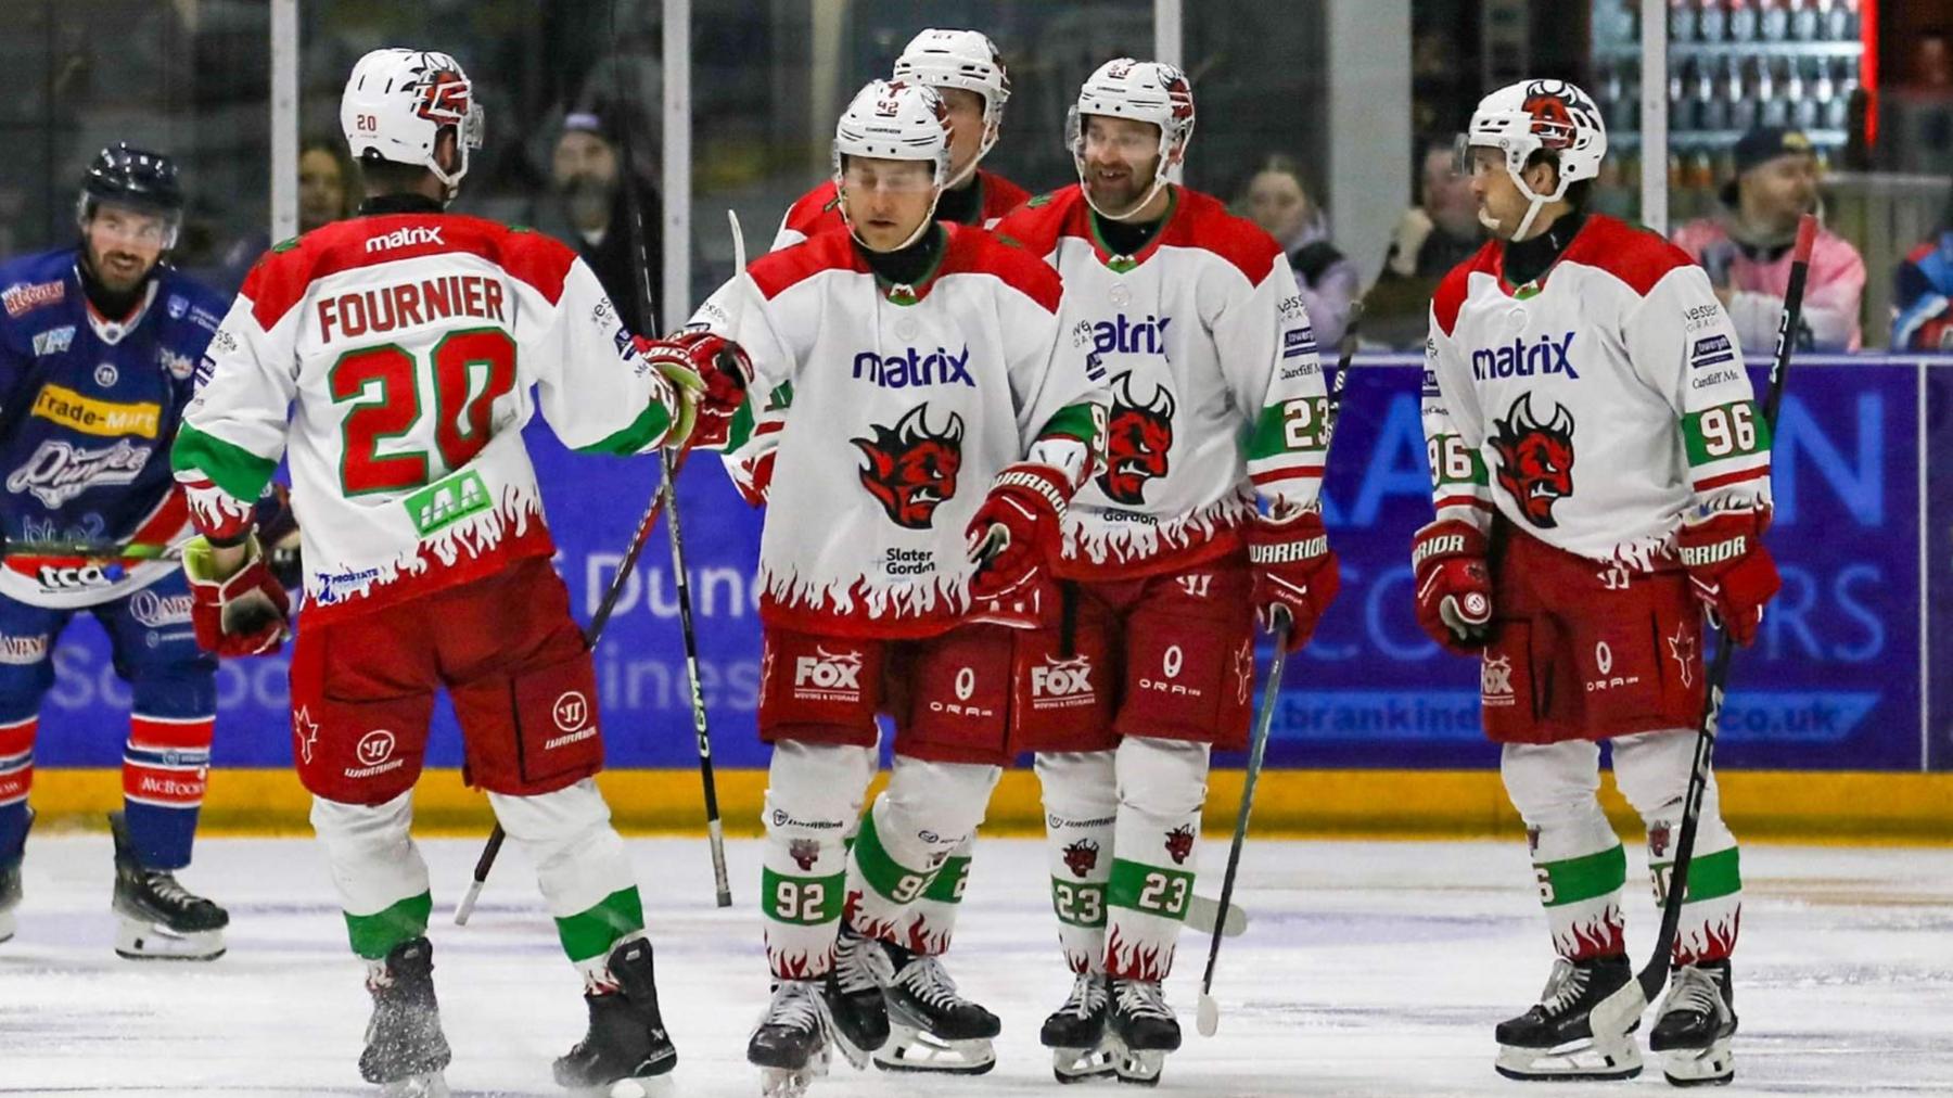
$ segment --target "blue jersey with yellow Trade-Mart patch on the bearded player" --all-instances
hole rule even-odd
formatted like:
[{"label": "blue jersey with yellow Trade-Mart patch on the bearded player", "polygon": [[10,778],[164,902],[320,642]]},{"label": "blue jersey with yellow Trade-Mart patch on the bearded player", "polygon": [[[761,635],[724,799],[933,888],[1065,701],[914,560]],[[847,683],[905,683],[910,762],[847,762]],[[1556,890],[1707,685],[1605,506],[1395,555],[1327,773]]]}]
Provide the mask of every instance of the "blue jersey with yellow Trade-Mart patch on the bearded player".
[{"label": "blue jersey with yellow Trade-Mart patch on the bearded player", "polygon": [[170,443],[227,301],[162,266],[131,317],[82,293],[78,252],[0,264],[0,594],[96,606],[176,561],[29,551],[35,543],[168,545],[189,535]]}]

